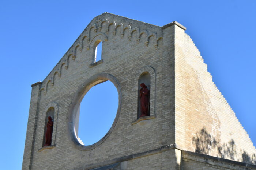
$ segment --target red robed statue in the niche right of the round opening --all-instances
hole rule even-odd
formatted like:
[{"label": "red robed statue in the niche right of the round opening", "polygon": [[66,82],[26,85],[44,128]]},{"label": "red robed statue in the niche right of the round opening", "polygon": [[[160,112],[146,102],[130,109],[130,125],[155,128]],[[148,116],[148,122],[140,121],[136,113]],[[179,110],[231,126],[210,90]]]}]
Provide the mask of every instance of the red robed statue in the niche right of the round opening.
[{"label": "red robed statue in the niche right of the round opening", "polygon": [[150,91],[144,83],[140,84],[140,117],[149,116],[149,97]]}]

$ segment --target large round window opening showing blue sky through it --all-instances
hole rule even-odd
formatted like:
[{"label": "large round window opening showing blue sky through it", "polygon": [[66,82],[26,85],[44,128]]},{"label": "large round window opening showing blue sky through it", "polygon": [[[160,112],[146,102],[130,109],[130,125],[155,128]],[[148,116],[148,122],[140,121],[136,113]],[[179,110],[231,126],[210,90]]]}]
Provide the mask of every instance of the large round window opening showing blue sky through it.
[{"label": "large round window opening showing blue sky through it", "polygon": [[112,127],[118,109],[117,88],[110,81],[96,84],[86,93],[78,107],[75,135],[81,145],[93,145]]}]

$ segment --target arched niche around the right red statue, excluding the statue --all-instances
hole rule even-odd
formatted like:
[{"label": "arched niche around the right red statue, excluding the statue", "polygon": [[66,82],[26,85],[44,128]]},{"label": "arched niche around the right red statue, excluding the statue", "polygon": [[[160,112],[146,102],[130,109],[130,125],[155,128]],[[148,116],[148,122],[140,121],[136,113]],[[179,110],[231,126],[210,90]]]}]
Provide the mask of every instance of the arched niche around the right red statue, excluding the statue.
[{"label": "arched niche around the right red statue, excluding the statue", "polygon": [[[149,105],[150,105],[150,116],[149,118],[147,119],[153,119],[155,118],[155,69],[151,66],[144,66],[142,67],[137,75],[136,75],[136,85],[137,86],[137,89],[136,90],[136,100],[137,102],[139,102],[139,90],[140,90],[140,83],[143,83],[143,79],[141,78],[145,78],[145,79],[148,79],[150,78],[150,80],[146,80],[147,82],[145,83],[146,85],[149,85],[150,86],[150,102],[149,102]],[[137,106],[139,107],[139,103],[137,103]],[[134,116],[136,119],[135,119],[135,122],[133,122],[132,124],[136,124],[138,123],[140,120],[144,120],[143,117],[139,118],[139,108],[137,107],[137,112],[136,112],[136,115]],[[148,116],[147,116],[148,117]]]}]

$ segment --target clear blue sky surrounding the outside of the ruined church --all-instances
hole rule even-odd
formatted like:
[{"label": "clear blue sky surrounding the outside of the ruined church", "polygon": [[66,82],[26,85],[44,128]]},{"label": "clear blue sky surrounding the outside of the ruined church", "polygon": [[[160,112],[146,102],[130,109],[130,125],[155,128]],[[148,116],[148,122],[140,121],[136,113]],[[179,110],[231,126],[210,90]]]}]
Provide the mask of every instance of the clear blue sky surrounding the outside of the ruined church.
[{"label": "clear blue sky surrounding the outside of the ruined church", "polygon": [[31,84],[44,80],[103,12],[159,26],[178,21],[187,27],[216,86],[255,145],[255,9],[254,0],[1,1],[1,169],[21,168]]}]

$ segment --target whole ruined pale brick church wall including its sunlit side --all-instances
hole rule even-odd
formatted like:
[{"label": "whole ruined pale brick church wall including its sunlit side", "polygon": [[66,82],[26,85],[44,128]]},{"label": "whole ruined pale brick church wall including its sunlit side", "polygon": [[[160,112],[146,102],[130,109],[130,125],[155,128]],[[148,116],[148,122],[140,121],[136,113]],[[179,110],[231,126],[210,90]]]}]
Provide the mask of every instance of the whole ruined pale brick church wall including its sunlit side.
[{"label": "whole ruined pale brick church wall including its sunlit side", "polygon": [[[256,169],[249,135],[185,30],[176,21],[159,27],[95,17],[32,84],[22,169]],[[80,102],[107,80],[118,91],[116,118],[102,139],[84,146]]]}]

